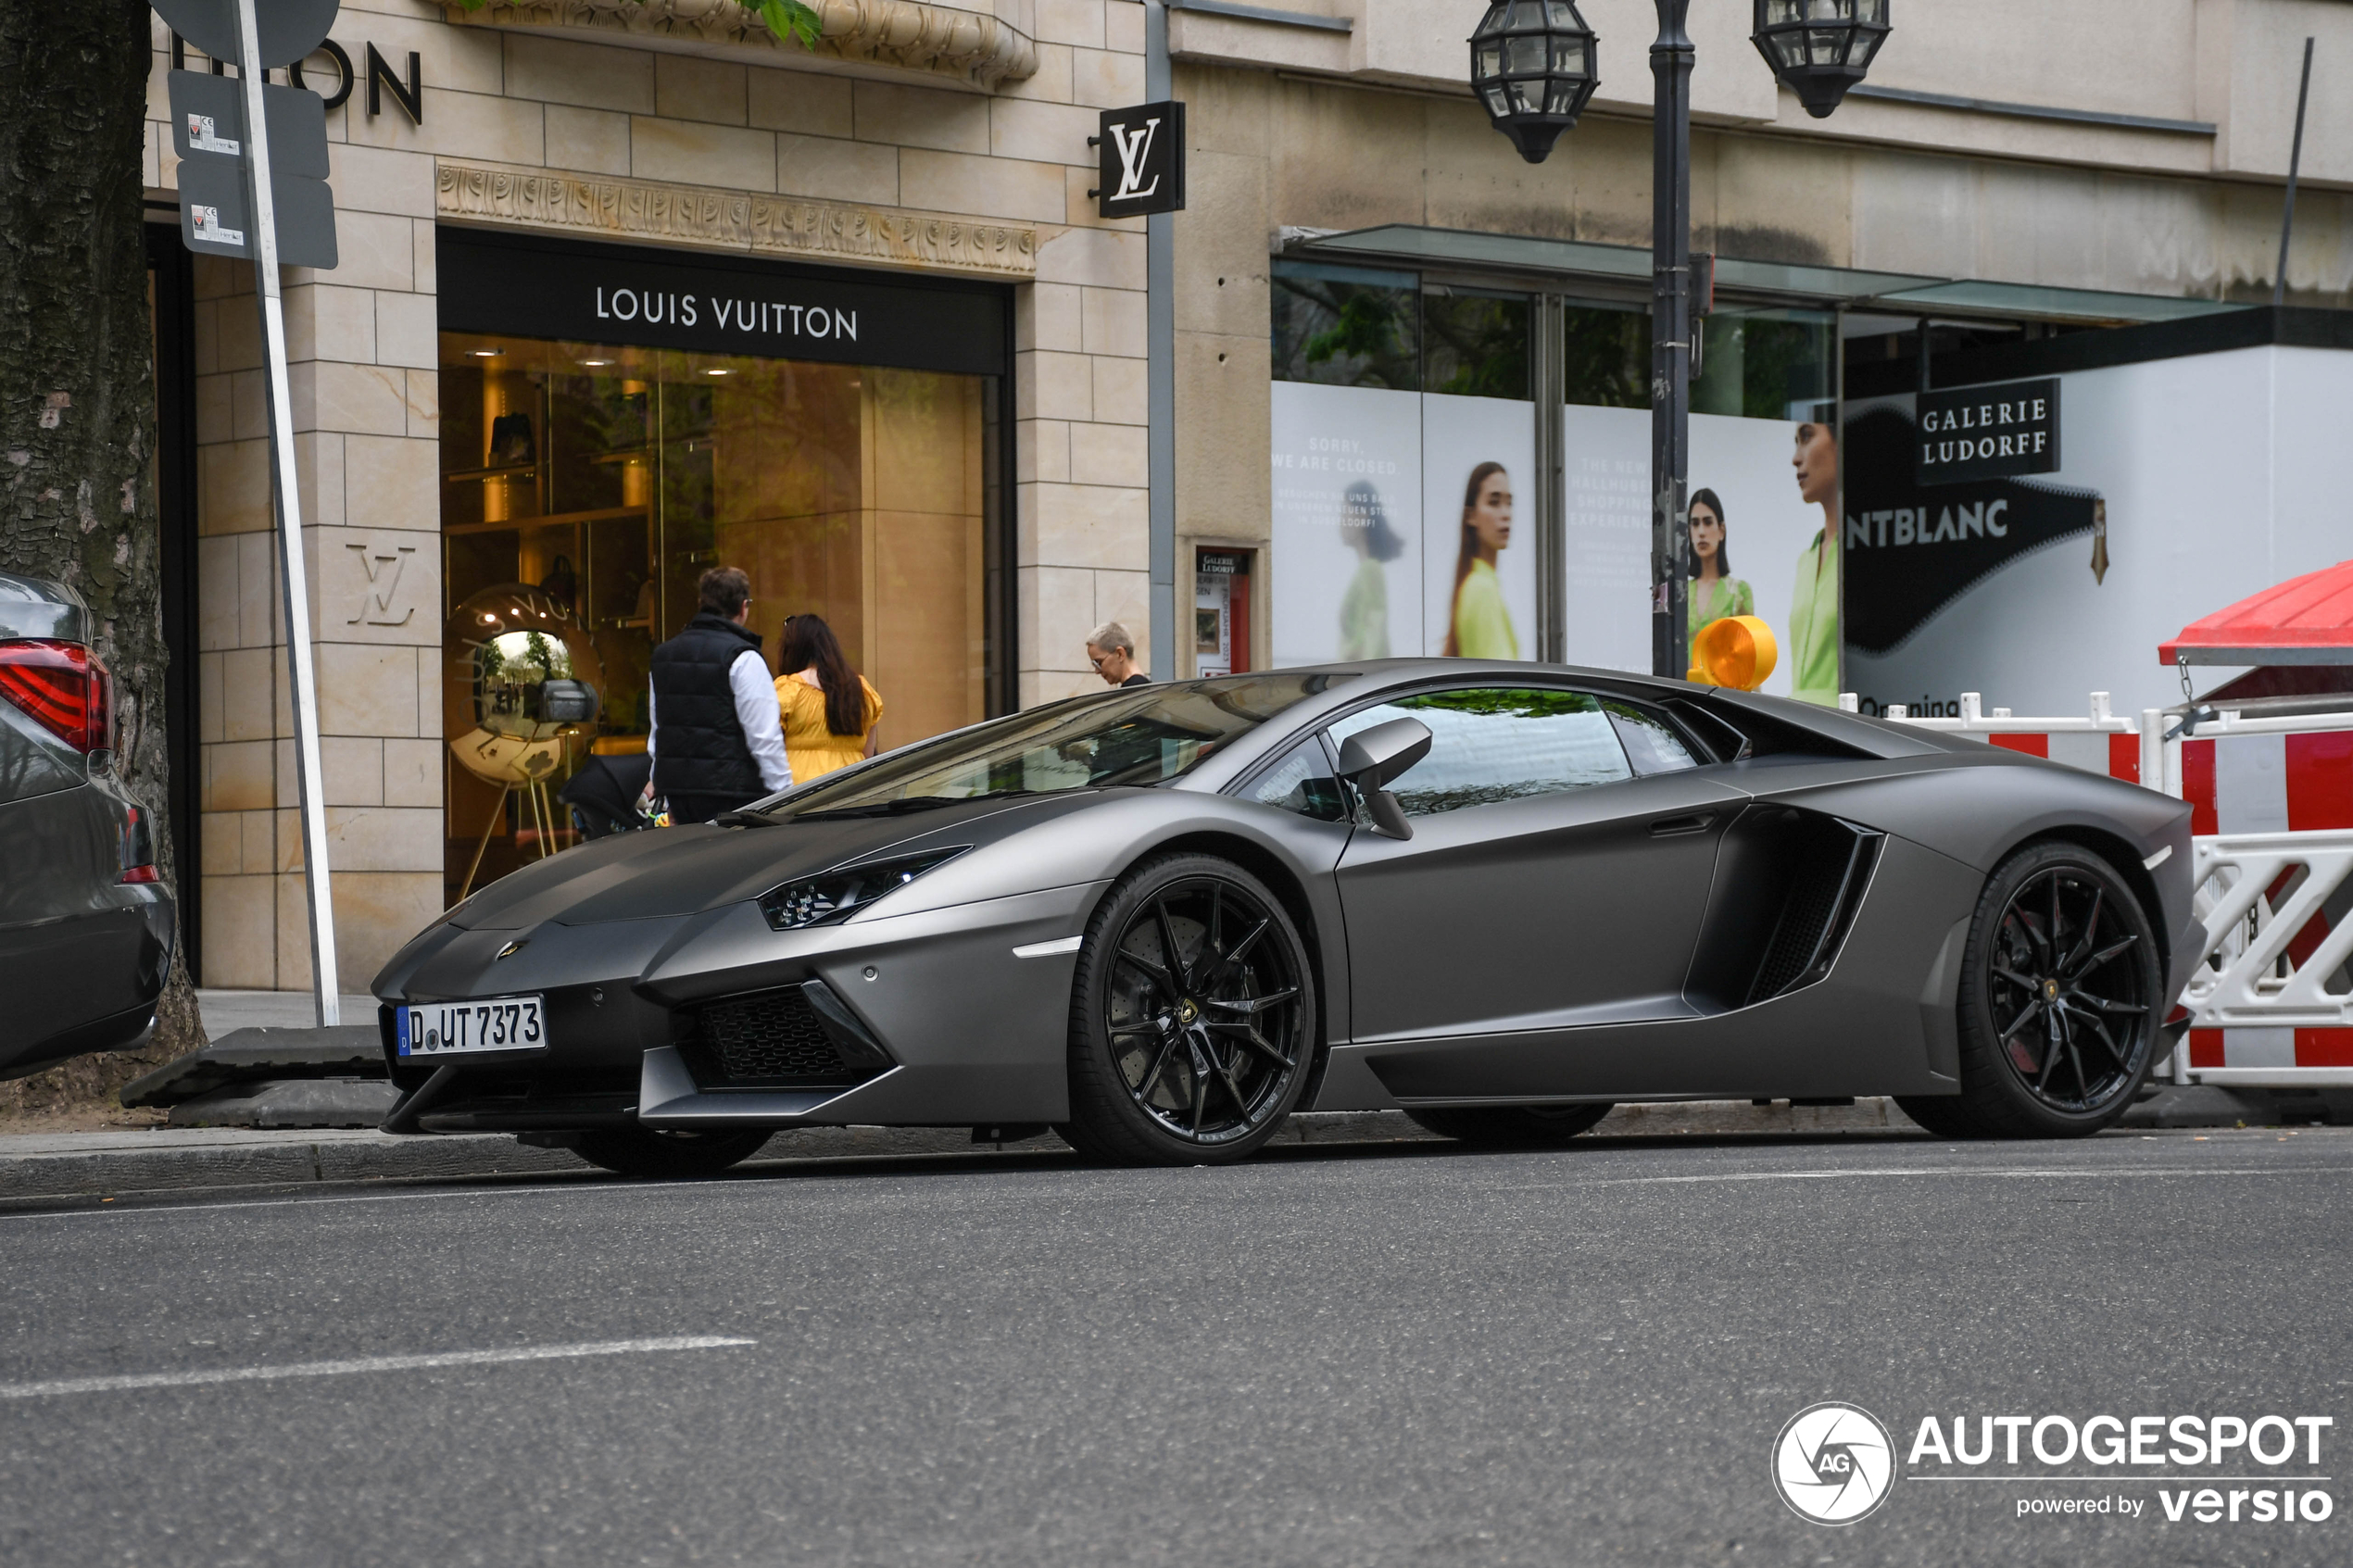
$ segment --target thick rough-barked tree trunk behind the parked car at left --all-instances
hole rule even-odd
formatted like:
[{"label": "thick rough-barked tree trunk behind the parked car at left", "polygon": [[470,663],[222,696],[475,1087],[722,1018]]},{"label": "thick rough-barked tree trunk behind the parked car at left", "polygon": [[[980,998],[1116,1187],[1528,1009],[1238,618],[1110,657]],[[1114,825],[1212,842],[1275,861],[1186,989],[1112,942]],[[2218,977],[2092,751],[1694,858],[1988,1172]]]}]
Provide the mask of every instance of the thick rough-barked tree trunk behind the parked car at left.
[{"label": "thick rough-barked tree trunk behind the parked car at left", "polygon": [[[115,677],[115,766],[151,813],[176,889],[139,172],[148,59],[144,0],[0,2],[0,562],[89,602]],[[9,1084],[0,1110],[111,1098],[200,1044],[174,957],[146,1048]]]}]

